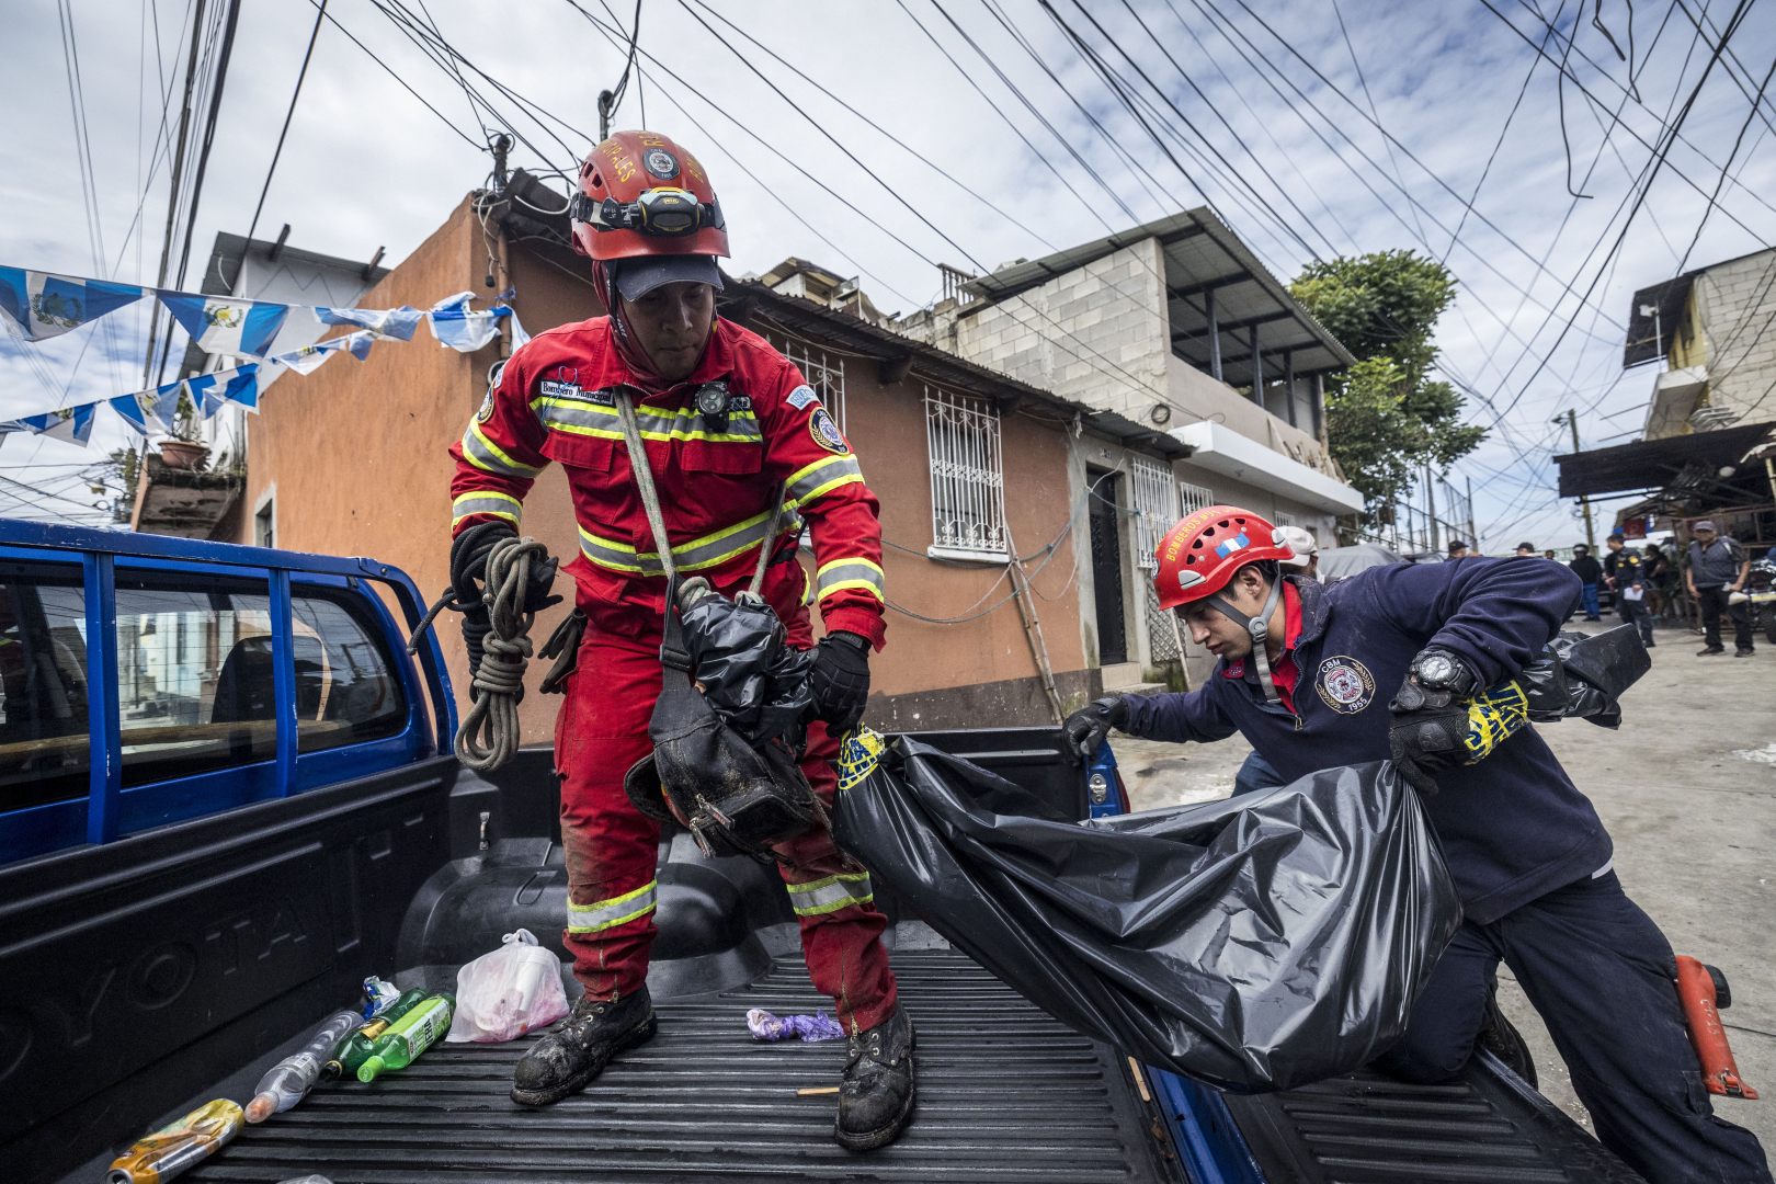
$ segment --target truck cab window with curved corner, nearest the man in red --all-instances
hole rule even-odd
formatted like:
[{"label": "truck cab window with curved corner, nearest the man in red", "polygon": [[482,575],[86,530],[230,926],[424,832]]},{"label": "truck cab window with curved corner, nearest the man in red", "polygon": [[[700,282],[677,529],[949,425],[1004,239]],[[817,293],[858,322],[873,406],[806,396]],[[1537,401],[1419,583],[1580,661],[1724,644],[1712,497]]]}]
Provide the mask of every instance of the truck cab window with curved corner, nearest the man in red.
[{"label": "truck cab window with curved corner, nearest the man in red", "polygon": [[407,696],[382,630],[357,596],[297,586],[297,751],[316,753],[400,735]]}]

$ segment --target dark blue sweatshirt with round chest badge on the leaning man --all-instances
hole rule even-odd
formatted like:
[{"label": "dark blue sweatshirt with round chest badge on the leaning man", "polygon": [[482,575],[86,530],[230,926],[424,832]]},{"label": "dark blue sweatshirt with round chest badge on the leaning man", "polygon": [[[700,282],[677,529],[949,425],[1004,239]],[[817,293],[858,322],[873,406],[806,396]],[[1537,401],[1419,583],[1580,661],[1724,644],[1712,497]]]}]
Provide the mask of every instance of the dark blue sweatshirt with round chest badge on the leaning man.
[{"label": "dark blue sweatshirt with round chest badge on the leaning man", "polygon": [[[1130,696],[1130,735],[1222,740],[1241,733],[1284,779],[1387,760],[1387,701],[1426,646],[1462,657],[1492,687],[1534,660],[1579,604],[1558,563],[1463,559],[1371,568],[1300,595],[1293,712],[1266,706],[1250,662],[1217,664],[1201,691]],[[1572,726],[1572,724],[1568,724]],[[1611,857],[1609,833],[1534,726],[1478,765],[1437,776],[1424,799],[1469,920],[1488,923]]]}]

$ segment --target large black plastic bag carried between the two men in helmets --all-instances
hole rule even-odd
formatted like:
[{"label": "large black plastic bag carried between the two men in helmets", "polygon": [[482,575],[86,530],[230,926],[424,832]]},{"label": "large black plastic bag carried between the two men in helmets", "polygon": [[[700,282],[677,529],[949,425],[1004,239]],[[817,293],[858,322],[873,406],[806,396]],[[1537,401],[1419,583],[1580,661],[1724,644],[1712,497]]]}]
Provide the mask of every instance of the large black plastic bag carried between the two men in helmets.
[{"label": "large black plastic bag carried between the two men in helmets", "polygon": [[1391,763],[1071,822],[957,756],[847,740],[833,834],[1050,1015],[1162,1069],[1288,1090],[1385,1051],[1462,923]]}]

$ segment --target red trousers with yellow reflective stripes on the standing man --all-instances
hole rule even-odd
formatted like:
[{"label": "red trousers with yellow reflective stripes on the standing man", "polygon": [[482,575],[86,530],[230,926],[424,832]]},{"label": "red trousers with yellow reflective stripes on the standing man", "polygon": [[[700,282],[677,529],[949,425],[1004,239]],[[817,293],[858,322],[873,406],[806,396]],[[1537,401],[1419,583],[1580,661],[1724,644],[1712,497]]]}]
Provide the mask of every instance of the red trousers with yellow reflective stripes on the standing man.
[{"label": "red trousers with yellow reflective stripes on the standing man", "polygon": [[[799,589],[801,580],[765,584],[773,607],[789,627],[790,643],[808,646],[813,635],[808,611],[796,602]],[[648,909],[627,920],[618,918],[634,912],[639,904],[616,904],[623,896],[639,902],[657,891],[652,886],[659,824],[643,817],[623,795],[623,774],[650,751],[648,717],[661,687],[659,634],[652,632],[655,620],[650,616],[648,628],[638,630],[636,637],[586,630],[579,669],[568,680],[567,703],[556,721],[570,911],[574,918],[609,921],[593,932],[575,932],[597,921],[574,920],[563,934],[574,955],[574,975],[591,998],[639,991],[659,923],[668,928],[682,923],[670,904],[664,918]],[[826,762],[836,754],[838,742],[826,735],[826,726],[810,726],[801,769],[828,804],[836,777]],[[842,856],[819,827],[778,843],[778,852],[790,861],[778,868],[780,875],[799,889],[790,898],[799,905],[803,953],[813,985],[833,998],[833,1010],[847,1031],[874,1028],[893,1014],[895,982],[881,944],[888,920],[868,900],[867,873]],[[735,864],[733,875],[765,875],[751,861],[730,863]],[[836,893],[828,895],[829,889]],[[819,911],[819,904],[797,900],[801,896],[835,907]],[[735,923],[744,925],[744,920],[735,918]]]}]

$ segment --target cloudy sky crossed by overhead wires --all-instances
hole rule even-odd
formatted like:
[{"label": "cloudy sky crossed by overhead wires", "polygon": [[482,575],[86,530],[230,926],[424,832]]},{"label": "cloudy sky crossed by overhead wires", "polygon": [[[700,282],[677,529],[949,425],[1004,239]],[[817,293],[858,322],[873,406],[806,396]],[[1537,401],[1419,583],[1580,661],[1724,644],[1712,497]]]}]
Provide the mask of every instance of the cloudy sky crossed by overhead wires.
[{"label": "cloudy sky crossed by overhead wires", "polygon": [[[0,0],[23,115],[0,264],[153,282],[195,4]],[[483,183],[503,128],[515,165],[570,169],[632,20],[629,0],[329,0],[259,236],[288,222],[295,247],[396,263]],[[314,0],[242,5],[188,289],[252,218],[314,27]],[[1653,373],[1621,369],[1632,291],[1776,241],[1776,96],[1751,103],[1772,55],[1776,7],[1749,0],[643,0],[616,126],[702,156],[737,270],[812,257],[888,312],[936,298],[936,263],[980,272],[1204,202],[1282,279],[1446,259],[1442,369],[1490,430],[1451,479],[1497,554],[1582,536],[1554,497],[1556,414],[1577,408],[1584,447],[1637,433]],[[146,304],[0,337],[0,415],[139,389],[144,341]],[[123,438],[9,437],[0,513],[103,518],[83,465]]]}]

